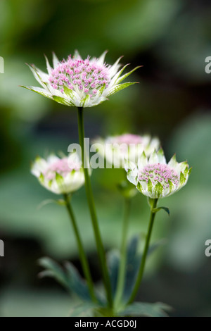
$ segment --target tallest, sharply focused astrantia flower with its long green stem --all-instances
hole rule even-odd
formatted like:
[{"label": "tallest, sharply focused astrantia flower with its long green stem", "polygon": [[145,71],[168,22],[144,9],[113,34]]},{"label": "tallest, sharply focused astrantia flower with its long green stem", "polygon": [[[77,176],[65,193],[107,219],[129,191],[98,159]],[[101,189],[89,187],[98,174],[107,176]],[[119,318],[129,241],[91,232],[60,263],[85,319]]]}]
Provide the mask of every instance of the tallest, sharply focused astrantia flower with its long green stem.
[{"label": "tallest, sharply focused astrantia flower with its long green stem", "polygon": [[113,65],[108,65],[104,62],[105,56],[106,52],[104,52],[100,58],[90,58],[88,56],[83,60],[76,51],[73,57],[69,56],[67,60],[60,62],[56,55],[53,54],[53,68],[51,68],[49,61],[46,58],[48,73],[39,70],[35,65],[30,65],[34,77],[42,88],[24,87],[60,104],[64,104],[65,106],[76,106],[78,108],[79,143],[82,148],[82,168],[84,170],[87,201],[94,228],[98,256],[101,262],[108,307],[112,308],[113,296],[106,265],[106,254],[103,248],[103,242],[96,217],[94,196],[86,165],[87,158],[84,157],[84,108],[101,104],[108,99],[108,96],[111,96],[130,85],[134,85],[135,82],[126,82],[122,84],[121,82],[139,67],[122,75],[127,65],[124,65],[124,67],[120,69],[119,62],[121,58],[118,58]]}]

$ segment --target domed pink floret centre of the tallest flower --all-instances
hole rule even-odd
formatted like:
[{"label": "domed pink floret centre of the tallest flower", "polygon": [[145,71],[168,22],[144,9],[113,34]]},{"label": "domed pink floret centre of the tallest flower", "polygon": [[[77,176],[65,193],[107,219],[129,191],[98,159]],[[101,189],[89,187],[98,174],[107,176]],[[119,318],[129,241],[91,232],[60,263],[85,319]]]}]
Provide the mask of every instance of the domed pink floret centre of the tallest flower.
[{"label": "domed pink floret centre of the tallest flower", "polygon": [[97,61],[71,58],[62,61],[56,69],[51,70],[49,82],[53,89],[64,92],[64,87],[72,89],[82,97],[94,96],[98,90],[110,82],[109,67],[99,65]]}]

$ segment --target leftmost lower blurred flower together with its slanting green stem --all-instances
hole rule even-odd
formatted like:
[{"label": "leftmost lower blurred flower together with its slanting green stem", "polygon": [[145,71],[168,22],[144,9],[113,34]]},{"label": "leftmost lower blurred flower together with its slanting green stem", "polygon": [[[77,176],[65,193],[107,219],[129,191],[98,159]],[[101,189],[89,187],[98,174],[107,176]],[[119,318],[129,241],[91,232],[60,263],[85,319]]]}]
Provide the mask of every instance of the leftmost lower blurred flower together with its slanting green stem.
[{"label": "leftmost lower blurred flower together with its slanting green stem", "polygon": [[96,301],[89,263],[87,261],[87,256],[84,251],[82,239],[79,234],[75,215],[72,210],[72,204],[70,202],[71,194],[84,185],[84,173],[81,165],[82,163],[79,161],[79,157],[75,153],[71,154],[69,157],[63,158],[58,158],[58,156],[52,154],[46,160],[37,157],[32,164],[31,171],[32,174],[38,178],[42,186],[55,194],[63,195],[64,204],[68,210],[75,237],[77,239],[79,257],[89,287],[89,294],[91,299]]}]

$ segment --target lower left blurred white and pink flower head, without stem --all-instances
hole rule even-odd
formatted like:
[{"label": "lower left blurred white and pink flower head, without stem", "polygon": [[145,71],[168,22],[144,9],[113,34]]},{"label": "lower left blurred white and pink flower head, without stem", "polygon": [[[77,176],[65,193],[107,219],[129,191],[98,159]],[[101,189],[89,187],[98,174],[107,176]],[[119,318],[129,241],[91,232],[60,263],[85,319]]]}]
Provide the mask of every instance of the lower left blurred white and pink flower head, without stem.
[{"label": "lower left blurred white and pink flower head, without stem", "polygon": [[49,156],[46,160],[37,157],[32,164],[32,174],[42,186],[56,194],[75,192],[84,184],[84,173],[76,153],[69,157]]}]

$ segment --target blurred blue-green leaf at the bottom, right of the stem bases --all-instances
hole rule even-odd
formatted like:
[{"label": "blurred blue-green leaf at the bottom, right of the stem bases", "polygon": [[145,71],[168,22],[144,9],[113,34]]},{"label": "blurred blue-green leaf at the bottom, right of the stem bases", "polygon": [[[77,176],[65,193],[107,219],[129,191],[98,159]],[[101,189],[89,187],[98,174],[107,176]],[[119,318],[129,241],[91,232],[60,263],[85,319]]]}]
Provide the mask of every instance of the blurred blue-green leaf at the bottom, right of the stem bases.
[{"label": "blurred blue-green leaf at the bottom, right of the stem bases", "polygon": [[170,311],[171,307],[160,302],[148,304],[145,302],[134,302],[120,312],[120,316],[148,316],[148,317],[167,317],[165,311]]}]

